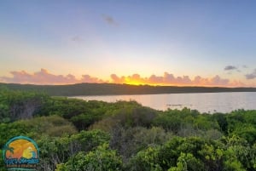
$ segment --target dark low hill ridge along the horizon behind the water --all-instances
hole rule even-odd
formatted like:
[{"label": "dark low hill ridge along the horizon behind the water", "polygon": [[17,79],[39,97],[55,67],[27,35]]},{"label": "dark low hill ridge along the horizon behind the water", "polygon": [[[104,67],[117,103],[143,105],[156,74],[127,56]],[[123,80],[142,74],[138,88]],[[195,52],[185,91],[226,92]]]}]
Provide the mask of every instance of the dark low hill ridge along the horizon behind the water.
[{"label": "dark low hill ridge along the horizon behind the water", "polygon": [[114,83],[77,83],[68,85],[0,83],[1,87],[15,90],[43,91],[54,96],[256,92],[256,88],[137,86]]}]

